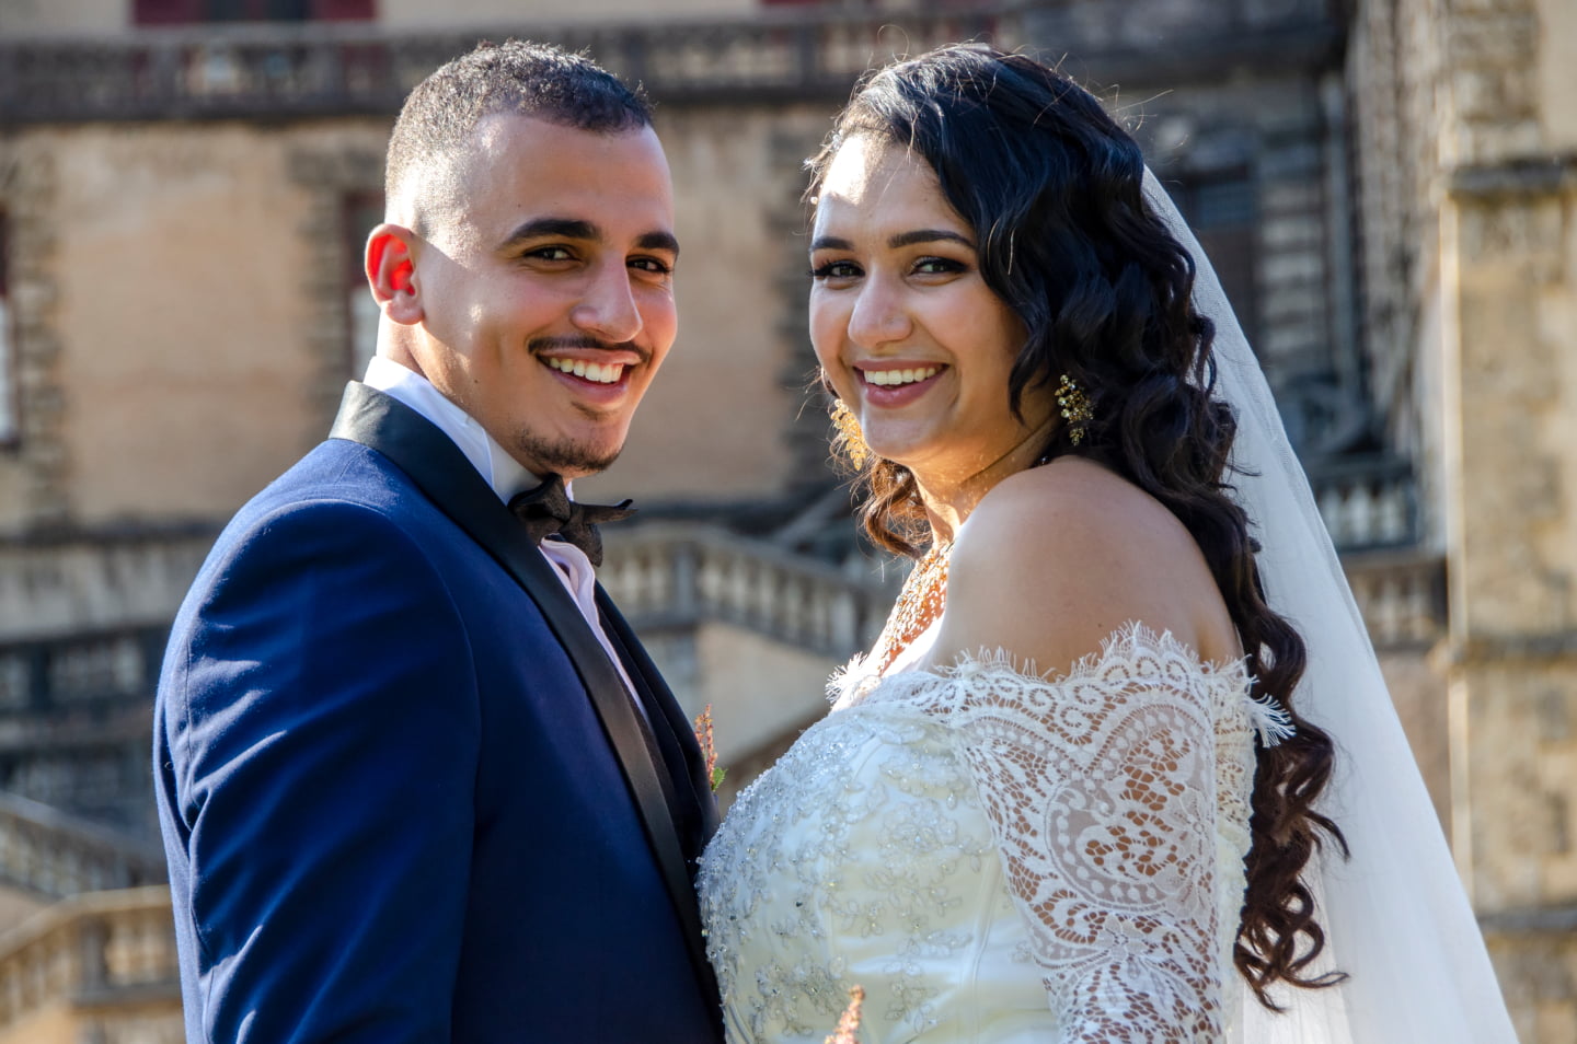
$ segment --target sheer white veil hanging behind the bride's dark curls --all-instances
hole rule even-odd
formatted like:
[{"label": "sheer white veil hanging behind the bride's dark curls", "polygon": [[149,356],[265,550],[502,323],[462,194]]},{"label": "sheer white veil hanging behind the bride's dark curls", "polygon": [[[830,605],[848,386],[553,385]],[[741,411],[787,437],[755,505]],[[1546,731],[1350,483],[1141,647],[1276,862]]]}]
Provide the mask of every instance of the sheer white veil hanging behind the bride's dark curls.
[{"label": "sheer white veil hanging behind the bride's dark curls", "polygon": [[1320,811],[1351,847],[1309,874],[1326,930],[1331,989],[1282,989],[1266,1011],[1228,984],[1238,1039],[1251,1044],[1515,1044],[1495,973],[1435,809],[1391,703],[1276,402],[1216,273],[1170,197],[1145,172],[1145,196],[1194,255],[1194,304],[1216,325],[1216,394],[1238,416],[1236,500],[1263,544],[1258,568],[1276,612],[1298,628],[1309,666],[1293,702],[1336,740]]}]

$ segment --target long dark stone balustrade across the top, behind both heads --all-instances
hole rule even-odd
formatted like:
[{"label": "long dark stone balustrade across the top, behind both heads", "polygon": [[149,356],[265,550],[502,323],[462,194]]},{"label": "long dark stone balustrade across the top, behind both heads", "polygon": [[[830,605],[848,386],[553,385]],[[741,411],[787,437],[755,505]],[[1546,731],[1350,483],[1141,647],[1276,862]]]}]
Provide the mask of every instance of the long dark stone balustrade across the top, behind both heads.
[{"label": "long dark stone balustrade across the top, behind both heads", "polygon": [[[1164,47],[1158,33],[1165,35]],[[1033,35],[1118,79],[1158,63],[1175,66],[1180,57],[1217,73],[1246,62],[1323,60],[1337,38],[1325,0],[1217,0],[1208,24],[1197,16],[1180,21],[1176,5],[1161,0],[1061,0],[948,11],[762,11],[735,21],[522,21],[421,35],[367,24],[207,25],[3,43],[0,123],[388,114],[413,84],[479,36],[508,35],[585,47],[665,104],[836,103],[889,55],[965,39],[1014,49],[1035,44]]]}]

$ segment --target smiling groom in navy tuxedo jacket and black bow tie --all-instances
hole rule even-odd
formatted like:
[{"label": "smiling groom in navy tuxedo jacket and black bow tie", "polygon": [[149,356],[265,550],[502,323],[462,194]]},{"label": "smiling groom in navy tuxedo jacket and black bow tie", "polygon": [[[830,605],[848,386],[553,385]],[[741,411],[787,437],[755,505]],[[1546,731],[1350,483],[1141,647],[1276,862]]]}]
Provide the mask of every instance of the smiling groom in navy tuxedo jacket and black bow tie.
[{"label": "smiling groom in navy tuxedo jacket and black bow tie", "polygon": [[386,177],[378,355],[219,536],[159,681],[188,1041],[718,1041],[700,752],[554,478],[618,456],[673,342],[650,110],[484,44]]}]

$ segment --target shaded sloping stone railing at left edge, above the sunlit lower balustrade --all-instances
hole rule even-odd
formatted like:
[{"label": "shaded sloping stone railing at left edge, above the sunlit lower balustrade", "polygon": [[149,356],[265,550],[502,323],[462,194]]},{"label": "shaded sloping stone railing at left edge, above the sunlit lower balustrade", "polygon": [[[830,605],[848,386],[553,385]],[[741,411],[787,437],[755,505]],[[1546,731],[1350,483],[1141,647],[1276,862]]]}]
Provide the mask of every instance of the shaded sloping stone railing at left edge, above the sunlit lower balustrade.
[{"label": "shaded sloping stone railing at left edge, above the sunlit lower balustrade", "polygon": [[0,792],[0,882],[63,899],[164,878],[151,844]]}]

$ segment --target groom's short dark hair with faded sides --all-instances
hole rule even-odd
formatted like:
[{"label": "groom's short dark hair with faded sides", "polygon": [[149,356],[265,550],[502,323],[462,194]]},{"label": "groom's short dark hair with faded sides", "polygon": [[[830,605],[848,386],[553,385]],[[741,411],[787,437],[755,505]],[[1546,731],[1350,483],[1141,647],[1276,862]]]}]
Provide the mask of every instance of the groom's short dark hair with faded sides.
[{"label": "groom's short dark hair with faded sides", "polygon": [[[583,54],[528,39],[484,39],[438,66],[401,106],[383,167],[390,205],[424,169],[449,167],[470,145],[476,125],[500,112],[599,134],[651,126],[651,106],[640,87],[626,87]],[[418,222],[423,210],[416,207]]]}]

